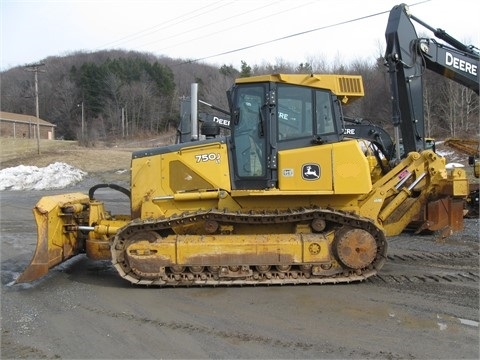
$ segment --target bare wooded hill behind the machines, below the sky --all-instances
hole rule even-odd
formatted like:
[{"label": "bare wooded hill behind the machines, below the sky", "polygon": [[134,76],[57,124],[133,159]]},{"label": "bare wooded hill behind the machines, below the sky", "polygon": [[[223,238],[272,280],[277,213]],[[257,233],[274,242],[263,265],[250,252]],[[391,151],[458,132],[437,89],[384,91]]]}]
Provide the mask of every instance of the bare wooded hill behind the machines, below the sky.
[{"label": "bare wooded hill behind the machines, below the sky", "polygon": [[[391,130],[389,77],[383,59],[375,64],[246,64],[220,68],[182,59],[132,51],[77,52],[42,61],[38,73],[40,117],[57,125],[56,137],[97,140],[154,137],[177,127],[180,99],[199,84],[199,99],[228,109],[226,91],[237,77],[268,73],[336,73],[362,75],[365,97],[344,109]],[[35,115],[34,74],[25,67],[1,73],[2,111]],[[476,137],[479,100],[471,90],[427,71],[424,77],[427,136]],[[83,103],[85,130],[81,133]],[[208,112],[213,113],[210,109]],[[126,125],[125,125],[126,124]]]}]

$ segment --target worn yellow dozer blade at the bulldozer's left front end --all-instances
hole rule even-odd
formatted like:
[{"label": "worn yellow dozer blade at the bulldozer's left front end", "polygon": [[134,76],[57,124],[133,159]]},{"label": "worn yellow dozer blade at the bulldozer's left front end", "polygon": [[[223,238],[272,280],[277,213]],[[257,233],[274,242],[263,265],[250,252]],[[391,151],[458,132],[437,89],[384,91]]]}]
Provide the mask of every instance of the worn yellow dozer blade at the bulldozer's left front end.
[{"label": "worn yellow dozer blade at the bulldozer's left front end", "polygon": [[74,219],[86,211],[88,203],[88,196],[81,193],[40,199],[33,209],[37,223],[37,248],[16,283],[39,279],[55,265],[83,251],[83,241],[77,238],[78,231],[73,231],[72,226],[78,225]]}]

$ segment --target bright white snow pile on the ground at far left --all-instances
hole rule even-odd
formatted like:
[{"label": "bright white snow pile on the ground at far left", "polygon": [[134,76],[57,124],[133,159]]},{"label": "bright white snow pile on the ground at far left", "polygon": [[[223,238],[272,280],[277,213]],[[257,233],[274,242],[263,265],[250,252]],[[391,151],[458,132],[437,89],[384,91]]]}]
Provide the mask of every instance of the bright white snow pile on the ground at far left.
[{"label": "bright white snow pile on the ground at far left", "polygon": [[83,180],[86,175],[85,171],[62,162],[43,168],[19,165],[0,170],[0,191],[63,189]]}]

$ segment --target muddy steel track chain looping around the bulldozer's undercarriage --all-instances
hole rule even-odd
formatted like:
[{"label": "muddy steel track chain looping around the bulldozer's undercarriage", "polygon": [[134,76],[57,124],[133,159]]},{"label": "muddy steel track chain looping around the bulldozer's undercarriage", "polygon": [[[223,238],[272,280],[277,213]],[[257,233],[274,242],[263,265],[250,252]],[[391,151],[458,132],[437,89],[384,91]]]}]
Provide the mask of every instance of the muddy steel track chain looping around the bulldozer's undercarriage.
[{"label": "muddy steel track chain looping around the bulldozer's undercarriage", "polygon": [[[269,272],[269,275],[259,272],[253,273],[241,279],[223,279],[215,274],[204,272],[201,274],[179,273],[171,274],[159,279],[142,278],[138,272],[133,272],[124,261],[123,252],[130,245],[128,239],[139,232],[171,230],[175,226],[194,224],[195,222],[214,220],[225,224],[261,224],[275,225],[280,223],[297,223],[323,219],[337,226],[351,226],[360,228],[370,233],[377,243],[377,256],[369,269],[351,271],[345,269],[344,273],[332,276],[315,277],[301,270]],[[228,235],[223,235],[228,236]],[[229,212],[227,210],[210,209],[197,212],[185,212],[180,215],[172,215],[165,219],[134,220],[122,228],[115,236],[112,250],[112,263],[119,274],[126,280],[141,285],[158,286],[220,286],[220,285],[274,285],[274,284],[313,284],[313,283],[347,283],[363,281],[377,273],[385,260],[387,242],[385,235],[370,219],[362,218],[353,213],[336,211],[323,208],[289,209],[284,212]]]}]

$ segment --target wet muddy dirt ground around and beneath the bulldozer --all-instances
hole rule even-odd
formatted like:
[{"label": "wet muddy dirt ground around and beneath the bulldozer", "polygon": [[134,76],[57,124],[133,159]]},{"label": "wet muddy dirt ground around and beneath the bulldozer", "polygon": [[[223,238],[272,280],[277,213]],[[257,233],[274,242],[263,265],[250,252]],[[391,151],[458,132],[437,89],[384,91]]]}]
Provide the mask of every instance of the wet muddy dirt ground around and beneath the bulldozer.
[{"label": "wet muddy dirt ground around and beneath the bulldozer", "polygon": [[[128,148],[54,149],[1,167],[62,161],[89,172],[64,192],[128,183]],[[105,161],[108,159],[108,161]],[[31,163],[29,163],[31,161]],[[55,191],[0,192],[2,359],[478,359],[479,220],[446,239],[389,239],[376,277],[345,285],[157,288],[79,255],[29,284],[31,209]],[[103,194],[112,212],[128,210]]]}]

